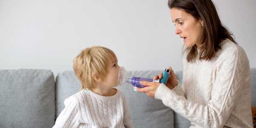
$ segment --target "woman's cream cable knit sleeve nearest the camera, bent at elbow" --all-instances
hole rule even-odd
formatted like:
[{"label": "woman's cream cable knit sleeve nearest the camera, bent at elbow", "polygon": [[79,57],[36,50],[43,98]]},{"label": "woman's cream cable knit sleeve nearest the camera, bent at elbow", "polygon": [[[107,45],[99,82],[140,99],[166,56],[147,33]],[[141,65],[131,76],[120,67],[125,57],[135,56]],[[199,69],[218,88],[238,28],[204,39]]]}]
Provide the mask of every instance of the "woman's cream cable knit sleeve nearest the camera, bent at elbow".
[{"label": "woman's cream cable knit sleeve nearest the camera, bent at elbow", "polygon": [[207,105],[188,101],[164,84],[158,87],[155,98],[161,99],[166,106],[201,127],[222,128],[243,86],[250,79],[249,62],[244,54],[236,49],[228,51],[225,56],[219,56],[220,62],[213,70],[216,79],[212,81],[212,98]]}]

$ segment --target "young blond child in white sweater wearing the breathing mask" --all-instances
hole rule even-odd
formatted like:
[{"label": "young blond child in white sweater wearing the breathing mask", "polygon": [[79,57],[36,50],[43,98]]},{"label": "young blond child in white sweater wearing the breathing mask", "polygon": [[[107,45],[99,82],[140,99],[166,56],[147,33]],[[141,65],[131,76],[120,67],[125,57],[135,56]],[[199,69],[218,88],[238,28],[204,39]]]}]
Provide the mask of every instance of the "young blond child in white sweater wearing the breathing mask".
[{"label": "young blond child in white sweater wearing the breathing mask", "polygon": [[134,128],[124,93],[117,85],[119,65],[113,51],[90,47],[73,60],[80,91],[64,101],[53,128]]}]

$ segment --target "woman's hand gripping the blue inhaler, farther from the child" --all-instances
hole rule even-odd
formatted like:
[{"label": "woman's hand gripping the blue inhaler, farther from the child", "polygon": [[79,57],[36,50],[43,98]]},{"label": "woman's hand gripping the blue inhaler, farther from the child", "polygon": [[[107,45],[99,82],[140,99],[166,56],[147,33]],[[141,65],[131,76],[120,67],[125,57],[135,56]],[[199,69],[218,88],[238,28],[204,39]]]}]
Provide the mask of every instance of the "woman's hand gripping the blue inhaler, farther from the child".
[{"label": "woman's hand gripping the blue inhaler, farther from the child", "polygon": [[[170,76],[166,83],[166,86],[170,90],[172,90],[175,86],[178,85],[178,80],[176,79],[176,76],[174,75],[174,71],[172,70],[172,67],[169,67],[169,70],[171,70],[171,71],[170,71]],[[163,73],[160,73],[159,76],[154,76],[154,80],[162,79],[162,78],[163,78]]]}]

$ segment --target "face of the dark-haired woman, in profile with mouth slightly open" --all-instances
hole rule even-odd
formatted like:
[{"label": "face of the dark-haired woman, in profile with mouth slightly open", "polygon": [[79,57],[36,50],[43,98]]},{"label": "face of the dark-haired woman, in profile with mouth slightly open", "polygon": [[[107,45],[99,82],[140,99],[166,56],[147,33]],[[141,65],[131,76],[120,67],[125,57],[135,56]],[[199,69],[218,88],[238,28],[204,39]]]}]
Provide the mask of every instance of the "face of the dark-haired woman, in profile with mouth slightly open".
[{"label": "face of the dark-haired woman, in profile with mouth slightly open", "polygon": [[198,45],[203,21],[196,20],[188,13],[176,8],[171,9],[171,17],[172,22],[175,23],[175,34],[183,38],[186,47]]}]

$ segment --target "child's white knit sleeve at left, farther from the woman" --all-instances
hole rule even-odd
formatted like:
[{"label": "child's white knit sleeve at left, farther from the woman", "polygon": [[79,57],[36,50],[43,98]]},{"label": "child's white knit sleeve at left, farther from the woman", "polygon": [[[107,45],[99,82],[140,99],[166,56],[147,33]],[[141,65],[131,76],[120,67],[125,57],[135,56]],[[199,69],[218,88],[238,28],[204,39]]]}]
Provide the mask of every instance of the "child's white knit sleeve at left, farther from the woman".
[{"label": "child's white knit sleeve at left, farther from the woman", "polygon": [[64,105],[66,107],[61,111],[52,128],[77,128],[80,124],[80,114],[76,96],[73,95],[65,99]]}]

